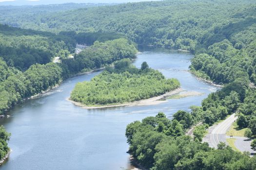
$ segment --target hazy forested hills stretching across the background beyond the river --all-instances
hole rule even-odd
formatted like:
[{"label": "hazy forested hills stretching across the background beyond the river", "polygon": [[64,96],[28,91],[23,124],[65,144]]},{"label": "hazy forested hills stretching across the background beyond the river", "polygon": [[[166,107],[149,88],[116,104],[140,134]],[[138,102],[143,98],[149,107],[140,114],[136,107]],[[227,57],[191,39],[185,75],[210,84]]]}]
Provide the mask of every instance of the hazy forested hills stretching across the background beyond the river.
[{"label": "hazy forested hills stretching across the background beyond the river", "polygon": [[212,45],[206,40],[209,37],[222,41],[225,30],[218,31],[223,26],[229,32],[229,26],[238,22],[240,27],[235,24],[233,31],[247,30],[255,23],[250,16],[255,17],[254,0],[165,0],[82,8],[36,18],[18,12],[8,19],[2,15],[0,22],[51,32],[112,31],[126,34],[138,44],[195,51],[200,44]]}]

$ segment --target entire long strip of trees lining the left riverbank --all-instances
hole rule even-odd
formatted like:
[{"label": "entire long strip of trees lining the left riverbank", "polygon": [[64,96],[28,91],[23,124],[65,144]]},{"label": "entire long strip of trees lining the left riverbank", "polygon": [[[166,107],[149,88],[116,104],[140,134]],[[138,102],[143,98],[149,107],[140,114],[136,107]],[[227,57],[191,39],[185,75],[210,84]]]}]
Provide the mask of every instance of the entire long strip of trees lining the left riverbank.
[{"label": "entire long strip of trees lining the left riverbank", "polygon": [[63,58],[61,63],[34,64],[24,72],[0,59],[0,113],[24,98],[58,85],[71,75],[101,68],[123,58],[132,59],[136,52],[135,46],[122,38],[96,41],[74,58]]}]

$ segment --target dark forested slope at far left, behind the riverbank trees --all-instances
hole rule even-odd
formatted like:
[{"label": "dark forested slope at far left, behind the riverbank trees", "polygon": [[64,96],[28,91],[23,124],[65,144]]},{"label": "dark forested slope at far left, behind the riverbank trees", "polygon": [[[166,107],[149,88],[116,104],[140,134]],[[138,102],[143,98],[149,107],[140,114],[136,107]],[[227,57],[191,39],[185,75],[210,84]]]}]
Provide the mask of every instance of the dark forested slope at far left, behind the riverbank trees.
[{"label": "dark forested slope at far left, behind the riverbank trees", "polygon": [[76,40],[63,34],[0,25],[0,57],[22,71],[36,63],[47,64],[53,57],[65,57],[75,47]]}]

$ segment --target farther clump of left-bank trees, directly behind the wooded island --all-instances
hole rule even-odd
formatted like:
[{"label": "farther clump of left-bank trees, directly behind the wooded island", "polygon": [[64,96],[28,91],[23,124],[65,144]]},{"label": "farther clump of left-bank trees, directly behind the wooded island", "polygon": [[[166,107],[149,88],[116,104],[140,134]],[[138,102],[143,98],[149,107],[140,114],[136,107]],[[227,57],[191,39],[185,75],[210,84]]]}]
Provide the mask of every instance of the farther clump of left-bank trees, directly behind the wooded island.
[{"label": "farther clump of left-bank trees, directly behind the wooded island", "polygon": [[62,58],[61,67],[66,74],[103,68],[123,58],[136,57],[135,45],[127,39],[120,38],[106,42],[96,41],[94,45],[84,49],[74,58]]}]

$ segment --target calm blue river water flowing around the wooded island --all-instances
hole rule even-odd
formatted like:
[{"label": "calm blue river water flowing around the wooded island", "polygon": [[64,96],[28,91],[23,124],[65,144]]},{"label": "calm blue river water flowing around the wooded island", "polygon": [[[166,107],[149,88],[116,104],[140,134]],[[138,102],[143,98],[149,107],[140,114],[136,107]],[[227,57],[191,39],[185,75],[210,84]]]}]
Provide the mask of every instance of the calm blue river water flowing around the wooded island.
[{"label": "calm blue river water flowing around the wooded island", "polygon": [[8,161],[0,170],[123,170],[132,169],[126,125],[164,112],[169,118],[179,109],[189,110],[217,90],[198,81],[188,68],[192,54],[161,48],[140,48],[134,65],[146,61],[167,78],[177,78],[187,91],[203,93],[149,106],[87,110],[66,99],[78,82],[90,81],[100,71],[75,76],[49,93],[15,106],[10,118],[0,120],[12,134]]}]

